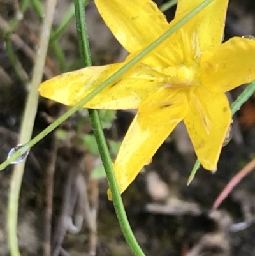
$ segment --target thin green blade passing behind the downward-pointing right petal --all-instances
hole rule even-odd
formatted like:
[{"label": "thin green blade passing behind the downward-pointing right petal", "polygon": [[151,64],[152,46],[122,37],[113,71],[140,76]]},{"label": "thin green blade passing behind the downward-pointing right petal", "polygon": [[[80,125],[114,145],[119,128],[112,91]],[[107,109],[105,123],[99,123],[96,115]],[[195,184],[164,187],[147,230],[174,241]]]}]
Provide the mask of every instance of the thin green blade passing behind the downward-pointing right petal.
[{"label": "thin green blade passing behind the downward-pointing right petal", "polygon": [[[237,100],[231,104],[231,112],[232,115],[234,115],[240,107],[254,94],[255,92],[255,80],[251,82],[245,89],[242,91],[242,93],[237,97]],[[191,181],[193,181],[196,171],[200,168],[200,162],[197,159],[193,169],[191,170],[191,174],[187,180],[187,186],[191,184]]]}]

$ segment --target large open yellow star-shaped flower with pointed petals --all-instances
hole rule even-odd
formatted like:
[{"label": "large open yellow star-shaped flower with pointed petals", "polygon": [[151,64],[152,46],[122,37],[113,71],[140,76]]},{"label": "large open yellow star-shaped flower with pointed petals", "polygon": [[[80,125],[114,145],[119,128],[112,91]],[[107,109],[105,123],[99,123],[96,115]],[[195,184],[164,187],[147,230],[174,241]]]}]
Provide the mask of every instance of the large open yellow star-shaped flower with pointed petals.
[{"label": "large open yellow star-shaped flower with pointed petals", "polygon": [[[150,0],[95,0],[107,26],[131,54],[128,59],[201,2],[179,0],[175,19],[168,24]],[[231,38],[221,44],[227,6],[228,0],[215,0],[84,106],[138,109],[114,163],[120,192],[180,121],[203,167],[217,169],[231,123],[225,92],[255,79],[255,41]],[[75,105],[124,63],[65,73],[41,84],[40,94]]]}]

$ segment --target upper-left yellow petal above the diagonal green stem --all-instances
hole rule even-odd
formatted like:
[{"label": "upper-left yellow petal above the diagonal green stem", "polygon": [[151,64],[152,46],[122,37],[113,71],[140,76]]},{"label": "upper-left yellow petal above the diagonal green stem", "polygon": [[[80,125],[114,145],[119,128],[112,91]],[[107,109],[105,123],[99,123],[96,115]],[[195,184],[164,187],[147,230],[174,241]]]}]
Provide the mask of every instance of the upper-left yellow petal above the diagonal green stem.
[{"label": "upper-left yellow petal above the diagonal green stem", "polygon": [[95,0],[95,3],[106,25],[128,52],[152,43],[168,26],[151,0]]}]

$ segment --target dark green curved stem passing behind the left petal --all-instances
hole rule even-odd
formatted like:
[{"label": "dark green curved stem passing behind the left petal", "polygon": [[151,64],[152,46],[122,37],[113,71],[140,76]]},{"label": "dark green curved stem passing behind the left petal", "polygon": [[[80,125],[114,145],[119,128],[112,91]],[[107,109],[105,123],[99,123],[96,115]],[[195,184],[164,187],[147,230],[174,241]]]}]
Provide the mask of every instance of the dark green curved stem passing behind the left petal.
[{"label": "dark green curved stem passing behind the left petal", "polygon": [[[77,22],[77,34],[78,42],[80,46],[80,55],[85,66],[91,66],[91,53],[89,50],[89,40],[87,36],[87,27],[85,19],[85,4],[83,0],[75,0],[75,18]],[[122,202],[122,198],[119,192],[119,186],[117,184],[112,160],[109,153],[109,149],[105,140],[105,135],[103,133],[103,128],[101,125],[98,110],[89,109],[89,117],[91,119],[91,124],[93,132],[98,144],[99,153],[103,165],[105,167],[106,177],[108,179],[109,187],[112,192],[113,205],[115,207],[116,215],[119,220],[120,228],[126,241],[131,248],[131,251],[138,256],[145,255],[136,241],[135,235],[129,225],[128,217]]]}]

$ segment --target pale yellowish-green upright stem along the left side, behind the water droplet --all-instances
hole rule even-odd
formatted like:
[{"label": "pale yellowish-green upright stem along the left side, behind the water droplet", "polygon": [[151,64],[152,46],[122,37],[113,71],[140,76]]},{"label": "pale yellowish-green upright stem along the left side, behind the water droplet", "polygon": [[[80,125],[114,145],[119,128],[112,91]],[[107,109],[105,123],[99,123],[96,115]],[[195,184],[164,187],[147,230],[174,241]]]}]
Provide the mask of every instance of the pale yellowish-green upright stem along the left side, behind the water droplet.
[{"label": "pale yellowish-green upright stem along the left side, behind the water droplet", "polygon": [[[31,87],[29,90],[29,96],[25,105],[24,117],[22,120],[20,130],[19,144],[25,144],[31,139],[31,135],[34,127],[34,119],[38,106],[38,86],[41,83],[43,77],[43,68],[45,64],[48,41],[50,37],[50,29],[52,26],[52,20],[54,17],[56,0],[48,0],[46,8],[46,16],[41,27],[40,42],[38,45],[38,54],[34,65]],[[22,148],[22,151],[27,146]],[[17,237],[17,220],[18,220],[18,199],[20,195],[20,186],[22,183],[22,177],[24,174],[25,160],[15,165],[13,174],[11,177],[9,202],[8,202],[8,218],[7,218],[7,230],[8,230],[8,242],[10,246],[10,254],[12,256],[20,256],[18,249],[18,237]]]}]

